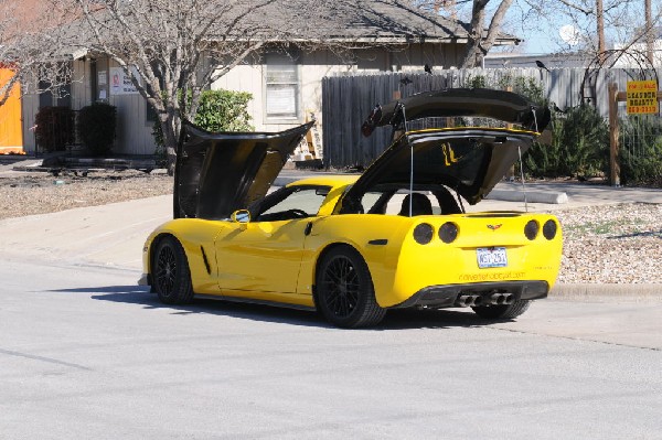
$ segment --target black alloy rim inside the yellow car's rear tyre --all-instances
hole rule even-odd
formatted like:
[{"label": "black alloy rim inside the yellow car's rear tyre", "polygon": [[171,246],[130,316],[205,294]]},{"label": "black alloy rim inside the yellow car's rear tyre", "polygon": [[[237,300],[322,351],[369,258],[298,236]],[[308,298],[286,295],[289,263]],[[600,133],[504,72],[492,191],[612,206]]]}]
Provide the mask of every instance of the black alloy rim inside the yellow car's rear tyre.
[{"label": "black alloy rim inside the yellow car's rear tyre", "polygon": [[332,259],[324,271],[322,285],[328,309],[339,318],[352,314],[360,293],[359,275],[352,261],[345,257]]}]

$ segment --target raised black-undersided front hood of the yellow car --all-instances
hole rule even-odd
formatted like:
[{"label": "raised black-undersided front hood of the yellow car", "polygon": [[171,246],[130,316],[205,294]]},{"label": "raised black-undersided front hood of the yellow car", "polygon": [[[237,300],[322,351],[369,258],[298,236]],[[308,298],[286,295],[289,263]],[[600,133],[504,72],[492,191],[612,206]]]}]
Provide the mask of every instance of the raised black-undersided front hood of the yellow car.
[{"label": "raised black-undersided front hood of the yellow car", "polygon": [[228,218],[264,197],[314,121],[281,132],[216,132],[184,125],[174,217]]}]

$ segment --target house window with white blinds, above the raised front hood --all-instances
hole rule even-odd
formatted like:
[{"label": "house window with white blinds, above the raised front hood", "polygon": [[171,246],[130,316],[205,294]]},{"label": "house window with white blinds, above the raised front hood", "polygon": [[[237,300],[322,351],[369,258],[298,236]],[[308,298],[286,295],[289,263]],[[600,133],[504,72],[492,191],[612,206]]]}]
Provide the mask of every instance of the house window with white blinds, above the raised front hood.
[{"label": "house window with white blinds, above the raised front hood", "polygon": [[299,71],[287,55],[267,56],[266,104],[269,120],[299,117]]}]

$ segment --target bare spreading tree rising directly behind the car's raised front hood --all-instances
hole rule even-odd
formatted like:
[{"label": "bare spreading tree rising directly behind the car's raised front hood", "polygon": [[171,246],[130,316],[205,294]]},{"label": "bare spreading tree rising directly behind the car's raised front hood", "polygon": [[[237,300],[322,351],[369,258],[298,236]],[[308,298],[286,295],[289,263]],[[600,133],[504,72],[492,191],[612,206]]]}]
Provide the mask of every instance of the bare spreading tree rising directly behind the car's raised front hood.
[{"label": "bare spreading tree rising directly behind the car's raised front hood", "polygon": [[[332,1],[303,0],[55,0],[81,20],[72,44],[106,54],[121,66],[156,110],[174,170],[184,119],[200,94],[265,44],[310,40],[332,24]],[[291,22],[292,12],[298,18]]]}]

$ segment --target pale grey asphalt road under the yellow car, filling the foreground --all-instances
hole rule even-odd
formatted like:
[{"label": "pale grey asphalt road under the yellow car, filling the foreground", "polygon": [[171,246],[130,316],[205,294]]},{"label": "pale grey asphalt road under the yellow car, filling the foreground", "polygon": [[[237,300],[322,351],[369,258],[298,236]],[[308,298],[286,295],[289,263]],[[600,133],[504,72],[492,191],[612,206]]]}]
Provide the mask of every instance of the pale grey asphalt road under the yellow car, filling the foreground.
[{"label": "pale grey asphalt road under the yellow car, filling the foreground", "polygon": [[1,439],[662,439],[662,303],[538,301],[516,322],[372,330],[139,272],[0,265]]}]

